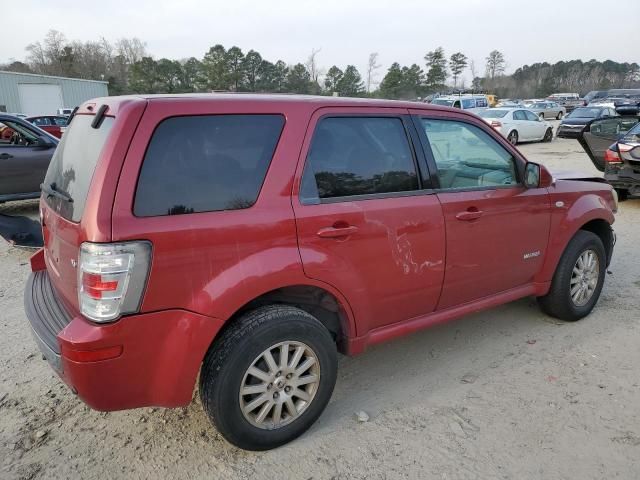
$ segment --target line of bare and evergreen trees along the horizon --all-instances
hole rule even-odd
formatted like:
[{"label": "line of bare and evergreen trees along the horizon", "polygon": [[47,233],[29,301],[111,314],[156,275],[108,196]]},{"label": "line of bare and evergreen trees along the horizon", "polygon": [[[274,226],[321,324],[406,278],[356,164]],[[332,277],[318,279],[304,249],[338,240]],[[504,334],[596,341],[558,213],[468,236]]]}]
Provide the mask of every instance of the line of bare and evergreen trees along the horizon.
[{"label": "line of bare and evergreen trees along the horizon", "polygon": [[[362,75],[355,65],[318,64],[313,49],[304,62],[272,62],[256,50],[217,44],[202,58],[153,58],[138,38],[110,43],[68,41],[51,30],[42,41],[26,47],[24,61],[0,65],[0,70],[105,80],[112,95],[125,93],[277,92],[350,97],[416,99],[436,92],[473,89],[501,98],[544,97],[553,92],[586,93],[607,88],[640,87],[637,63],[572,60],[525,65],[505,75],[504,54],[491,51],[477,65],[463,52],[447,56],[442,47],[429,51],[424,63],[402,66],[394,62],[378,82],[378,53],[371,53]],[[471,81],[464,73],[469,70]]]}]

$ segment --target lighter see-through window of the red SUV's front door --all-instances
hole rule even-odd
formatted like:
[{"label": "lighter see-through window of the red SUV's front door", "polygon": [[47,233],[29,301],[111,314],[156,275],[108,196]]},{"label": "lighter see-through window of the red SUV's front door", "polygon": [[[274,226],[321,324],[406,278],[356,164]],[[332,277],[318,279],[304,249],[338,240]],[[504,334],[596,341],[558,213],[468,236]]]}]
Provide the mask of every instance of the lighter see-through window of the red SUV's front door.
[{"label": "lighter see-through window of the red SUV's front door", "polygon": [[438,169],[440,188],[486,188],[518,183],[515,159],[480,128],[464,122],[422,119]]}]

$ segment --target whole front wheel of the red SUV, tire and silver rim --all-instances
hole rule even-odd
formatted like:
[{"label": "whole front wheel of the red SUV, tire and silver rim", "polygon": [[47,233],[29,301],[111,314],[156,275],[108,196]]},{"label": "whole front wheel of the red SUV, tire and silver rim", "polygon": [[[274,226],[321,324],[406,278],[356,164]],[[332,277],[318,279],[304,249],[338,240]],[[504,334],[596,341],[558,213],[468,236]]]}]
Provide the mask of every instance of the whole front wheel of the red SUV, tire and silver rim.
[{"label": "whole front wheel of the red SUV, tire and silver rim", "polygon": [[538,298],[542,310],[567,321],[589,315],[604,285],[606,259],[600,237],[584,230],[576,233],[560,258],[549,293]]}]

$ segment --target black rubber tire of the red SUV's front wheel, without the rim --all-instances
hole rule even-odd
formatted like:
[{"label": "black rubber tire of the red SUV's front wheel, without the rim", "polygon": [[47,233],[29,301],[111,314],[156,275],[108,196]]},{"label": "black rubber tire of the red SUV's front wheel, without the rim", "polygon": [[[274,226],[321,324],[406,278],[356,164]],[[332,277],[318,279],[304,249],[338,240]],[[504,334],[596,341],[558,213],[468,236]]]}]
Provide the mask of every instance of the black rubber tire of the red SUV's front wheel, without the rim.
[{"label": "black rubber tire of the red SUV's front wheel, without the rim", "polygon": [[[580,255],[589,250],[595,252],[598,259],[597,284],[589,300],[584,305],[576,305],[571,298],[572,273]],[[578,231],[560,257],[549,293],[538,297],[542,311],[547,315],[569,322],[586,317],[598,302],[606,271],[607,255],[600,237],[585,230]]]}]

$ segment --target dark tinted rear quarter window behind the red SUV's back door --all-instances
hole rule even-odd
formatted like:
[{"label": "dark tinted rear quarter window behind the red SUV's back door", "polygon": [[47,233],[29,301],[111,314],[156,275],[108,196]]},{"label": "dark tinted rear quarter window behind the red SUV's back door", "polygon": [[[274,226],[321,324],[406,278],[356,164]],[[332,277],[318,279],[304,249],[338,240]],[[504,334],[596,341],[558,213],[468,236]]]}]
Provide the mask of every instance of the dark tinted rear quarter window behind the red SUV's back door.
[{"label": "dark tinted rear quarter window behind the red SUV's back door", "polygon": [[282,115],[164,120],[142,163],[134,214],[150,217],[252,206],[283,125]]}]

